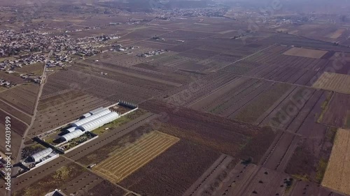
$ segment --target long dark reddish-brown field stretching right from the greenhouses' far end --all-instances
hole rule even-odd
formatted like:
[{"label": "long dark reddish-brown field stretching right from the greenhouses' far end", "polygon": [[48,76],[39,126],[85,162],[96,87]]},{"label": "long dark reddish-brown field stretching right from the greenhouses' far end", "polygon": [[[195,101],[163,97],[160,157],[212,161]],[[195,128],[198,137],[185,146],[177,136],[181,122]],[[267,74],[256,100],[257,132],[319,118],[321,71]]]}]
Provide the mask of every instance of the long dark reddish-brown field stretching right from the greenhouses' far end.
[{"label": "long dark reddish-brown field stretching right from the greenhouses' far end", "polygon": [[[155,123],[159,127],[158,130],[164,133],[207,146],[232,157],[251,156],[254,163],[259,162],[275,137],[271,128],[239,123],[186,107],[174,107],[159,101],[148,101],[140,107],[156,114],[167,114],[162,115],[164,121]],[[259,147],[255,148],[255,144],[259,144]]]}]

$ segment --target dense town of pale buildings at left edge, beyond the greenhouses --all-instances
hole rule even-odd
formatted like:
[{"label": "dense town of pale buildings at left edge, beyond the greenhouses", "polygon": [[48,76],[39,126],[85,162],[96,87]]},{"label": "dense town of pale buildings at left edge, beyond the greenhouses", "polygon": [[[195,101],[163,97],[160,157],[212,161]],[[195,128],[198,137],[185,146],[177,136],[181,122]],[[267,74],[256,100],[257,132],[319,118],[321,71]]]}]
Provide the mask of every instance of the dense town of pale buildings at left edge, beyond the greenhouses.
[{"label": "dense town of pale buildings at left edge, beyond the greenhouses", "polygon": [[[30,66],[36,63],[45,63],[46,67],[63,67],[73,62],[72,55],[93,56],[102,52],[99,50],[101,43],[120,38],[116,34],[103,36],[87,36],[73,38],[67,34],[48,36],[48,33],[34,31],[0,31],[0,58],[11,57],[0,61],[0,70],[8,73],[15,72],[16,68]],[[125,48],[128,50],[130,48]],[[123,50],[120,47],[118,50]],[[52,56],[46,61],[47,54],[52,51]],[[32,75],[20,75],[24,79],[40,82],[40,78],[32,78]],[[4,85],[8,85],[7,83]]]}]

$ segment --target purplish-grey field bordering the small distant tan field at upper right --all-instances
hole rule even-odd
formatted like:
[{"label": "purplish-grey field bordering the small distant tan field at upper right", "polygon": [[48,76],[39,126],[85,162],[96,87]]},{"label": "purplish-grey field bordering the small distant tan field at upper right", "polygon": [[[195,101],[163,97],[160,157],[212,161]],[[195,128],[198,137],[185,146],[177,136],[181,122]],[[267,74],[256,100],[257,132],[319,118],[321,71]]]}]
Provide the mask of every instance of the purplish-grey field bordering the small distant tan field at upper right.
[{"label": "purplish-grey field bordering the small distant tan field at upper right", "polygon": [[328,59],[282,54],[286,50],[290,50],[290,47],[274,45],[225,66],[221,71],[263,80],[311,86],[325,68],[332,66],[332,61]]}]

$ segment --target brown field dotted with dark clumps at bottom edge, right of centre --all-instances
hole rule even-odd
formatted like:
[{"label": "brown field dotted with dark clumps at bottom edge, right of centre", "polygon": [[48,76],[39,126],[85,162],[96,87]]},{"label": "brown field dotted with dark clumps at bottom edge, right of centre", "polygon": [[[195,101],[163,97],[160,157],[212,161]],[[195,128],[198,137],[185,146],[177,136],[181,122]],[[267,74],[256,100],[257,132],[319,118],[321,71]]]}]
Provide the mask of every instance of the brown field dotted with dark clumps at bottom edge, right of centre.
[{"label": "brown field dotted with dark clumps at bottom edge, right of centre", "polygon": [[205,176],[199,186],[193,184],[195,190],[191,187],[185,195],[284,195],[294,182],[288,174],[244,161],[230,163],[216,170]]}]

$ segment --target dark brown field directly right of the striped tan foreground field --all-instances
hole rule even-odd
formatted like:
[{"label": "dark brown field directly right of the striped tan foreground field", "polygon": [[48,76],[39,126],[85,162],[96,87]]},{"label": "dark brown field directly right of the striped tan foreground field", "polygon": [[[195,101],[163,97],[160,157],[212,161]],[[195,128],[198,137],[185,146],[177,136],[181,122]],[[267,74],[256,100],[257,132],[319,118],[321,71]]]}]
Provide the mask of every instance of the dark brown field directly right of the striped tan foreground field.
[{"label": "dark brown field directly right of the striped tan foreground field", "polygon": [[180,140],[120,185],[141,195],[181,196],[219,156],[204,146]]}]

